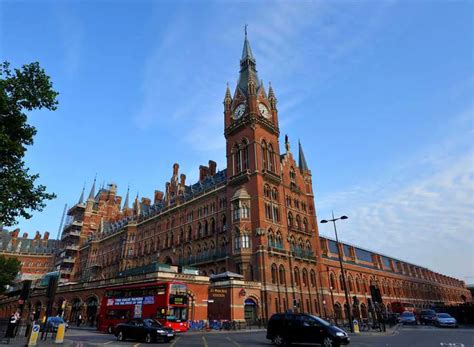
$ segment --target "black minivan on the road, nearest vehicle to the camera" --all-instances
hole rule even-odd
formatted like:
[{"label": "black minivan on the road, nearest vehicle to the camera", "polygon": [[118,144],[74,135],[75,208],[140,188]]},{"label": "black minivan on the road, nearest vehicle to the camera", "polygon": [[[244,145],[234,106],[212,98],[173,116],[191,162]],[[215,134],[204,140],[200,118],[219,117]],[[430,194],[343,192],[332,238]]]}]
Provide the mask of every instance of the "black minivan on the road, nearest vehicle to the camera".
[{"label": "black minivan on the road, nearest vehicle to the camera", "polygon": [[296,343],[320,343],[325,347],[347,345],[347,333],[310,314],[277,313],[268,321],[267,339],[277,346]]}]

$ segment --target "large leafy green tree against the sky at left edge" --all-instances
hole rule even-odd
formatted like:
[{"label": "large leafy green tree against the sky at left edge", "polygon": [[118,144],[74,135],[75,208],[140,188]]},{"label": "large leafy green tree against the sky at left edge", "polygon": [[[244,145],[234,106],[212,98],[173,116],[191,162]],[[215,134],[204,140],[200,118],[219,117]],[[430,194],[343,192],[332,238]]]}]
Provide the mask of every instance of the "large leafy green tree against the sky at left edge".
[{"label": "large leafy green tree against the sky at left edge", "polygon": [[31,211],[42,211],[45,201],[56,197],[43,185],[35,185],[38,174],[30,174],[23,157],[33,144],[36,128],[27,123],[24,111],[56,110],[58,93],[39,63],[10,70],[0,64],[0,225],[16,224]]}]

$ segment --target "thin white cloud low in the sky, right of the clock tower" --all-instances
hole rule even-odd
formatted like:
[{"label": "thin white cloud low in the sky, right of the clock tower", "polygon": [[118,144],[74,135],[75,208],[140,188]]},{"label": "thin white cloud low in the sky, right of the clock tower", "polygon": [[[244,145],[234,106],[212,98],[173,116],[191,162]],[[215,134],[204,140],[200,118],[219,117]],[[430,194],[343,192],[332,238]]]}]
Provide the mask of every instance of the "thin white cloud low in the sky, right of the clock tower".
[{"label": "thin white cloud low in the sky, right of the clock tower", "polygon": [[[461,280],[473,276],[474,150],[472,129],[463,130],[472,117],[471,108],[454,119],[458,131],[378,181],[316,198],[320,216],[329,208],[348,214],[338,228],[350,243]],[[320,232],[332,236],[325,226]]]}]

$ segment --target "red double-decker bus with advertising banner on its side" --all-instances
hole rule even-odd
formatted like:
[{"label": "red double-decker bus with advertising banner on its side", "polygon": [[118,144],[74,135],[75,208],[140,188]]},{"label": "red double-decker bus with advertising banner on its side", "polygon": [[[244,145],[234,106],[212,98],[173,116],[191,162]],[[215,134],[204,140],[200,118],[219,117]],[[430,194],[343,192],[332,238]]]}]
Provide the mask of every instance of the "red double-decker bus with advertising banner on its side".
[{"label": "red double-decker bus with advertising banner on its side", "polygon": [[153,318],[174,331],[188,330],[187,286],[180,282],[152,282],[108,288],[102,298],[97,329],[113,332],[132,318]]}]

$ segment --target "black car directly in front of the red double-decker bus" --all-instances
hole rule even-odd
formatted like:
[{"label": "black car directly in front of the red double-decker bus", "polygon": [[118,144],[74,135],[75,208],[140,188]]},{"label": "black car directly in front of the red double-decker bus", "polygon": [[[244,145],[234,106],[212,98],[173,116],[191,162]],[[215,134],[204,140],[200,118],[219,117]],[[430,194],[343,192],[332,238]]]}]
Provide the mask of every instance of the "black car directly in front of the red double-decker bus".
[{"label": "black car directly in front of the red double-decker bus", "polygon": [[169,342],[174,339],[174,330],[163,326],[153,319],[132,319],[127,323],[117,324],[114,328],[117,340],[145,340],[151,343],[157,340]]}]

